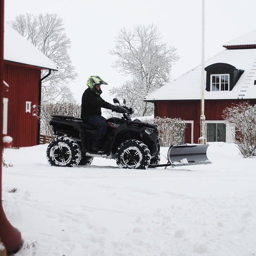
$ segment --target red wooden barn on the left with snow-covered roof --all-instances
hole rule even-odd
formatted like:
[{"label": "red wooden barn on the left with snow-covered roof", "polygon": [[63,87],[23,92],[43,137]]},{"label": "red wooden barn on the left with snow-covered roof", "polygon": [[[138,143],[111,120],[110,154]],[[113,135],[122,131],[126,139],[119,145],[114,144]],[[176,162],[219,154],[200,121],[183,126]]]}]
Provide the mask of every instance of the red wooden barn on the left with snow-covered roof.
[{"label": "red wooden barn on the left with snow-covered roof", "polygon": [[3,133],[13,147],[39,144],[37,108],[41,102],[41,71],[56,65],[11,26],[4,26],[4,123]]}]

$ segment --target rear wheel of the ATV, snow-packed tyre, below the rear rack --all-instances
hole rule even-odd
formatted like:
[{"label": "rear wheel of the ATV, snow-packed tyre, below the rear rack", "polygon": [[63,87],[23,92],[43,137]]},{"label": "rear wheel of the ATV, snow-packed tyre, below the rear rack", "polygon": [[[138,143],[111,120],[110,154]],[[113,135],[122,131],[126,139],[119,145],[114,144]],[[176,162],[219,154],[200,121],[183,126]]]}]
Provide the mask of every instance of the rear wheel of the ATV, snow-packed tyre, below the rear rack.
[{"label": "rear wheel of the ATV, snow-packed tyre, below the rear rack", "polygon": [[60,136],[48,145],[47,160],[53,166],[77,166],[81,159],[81,149],[77,142],[69,137]]}]

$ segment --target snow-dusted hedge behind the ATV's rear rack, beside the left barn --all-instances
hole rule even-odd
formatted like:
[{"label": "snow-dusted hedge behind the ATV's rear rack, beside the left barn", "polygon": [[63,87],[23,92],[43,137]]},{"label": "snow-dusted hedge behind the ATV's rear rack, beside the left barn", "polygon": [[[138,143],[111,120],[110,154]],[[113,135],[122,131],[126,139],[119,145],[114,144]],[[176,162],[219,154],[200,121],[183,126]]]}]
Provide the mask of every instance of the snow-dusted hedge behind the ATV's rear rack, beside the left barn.
[{"label": "snow-dusted hedge behind the ATV's rear rack, beside the left barn", "polygon": [[73,103],[42,104],[40,133],[49,137],[53,137],[52,126],[49,124],[49,121],[52,119],[51,115],[74,116],[80,118],[81,105]]}]

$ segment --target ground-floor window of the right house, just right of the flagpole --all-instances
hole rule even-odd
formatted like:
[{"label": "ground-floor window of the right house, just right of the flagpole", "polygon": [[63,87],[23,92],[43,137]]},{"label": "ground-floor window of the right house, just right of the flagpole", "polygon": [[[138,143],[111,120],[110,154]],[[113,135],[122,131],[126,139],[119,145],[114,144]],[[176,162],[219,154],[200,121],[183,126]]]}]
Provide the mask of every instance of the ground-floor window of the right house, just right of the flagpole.
[{"label": "ground-floor window of the right house, just right of the flagpole", "polygon": [[207,141],[208,142],[226,142],[226,124],[209,123],[207,124]]}]

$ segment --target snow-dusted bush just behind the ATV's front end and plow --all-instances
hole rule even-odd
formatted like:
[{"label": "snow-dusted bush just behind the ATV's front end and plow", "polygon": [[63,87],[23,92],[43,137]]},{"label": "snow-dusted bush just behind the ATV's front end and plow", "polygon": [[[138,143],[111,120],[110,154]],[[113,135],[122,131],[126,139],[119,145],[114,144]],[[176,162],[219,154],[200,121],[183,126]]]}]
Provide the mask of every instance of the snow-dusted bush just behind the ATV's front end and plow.
[{"label": "snow-dusted bush just behind the ATV's front end and plow", "polygon": [[179,145],[184,134],[185,122],[180,118],[155,117],[154,123],[158,125],[159,137],[162,147]]}]

